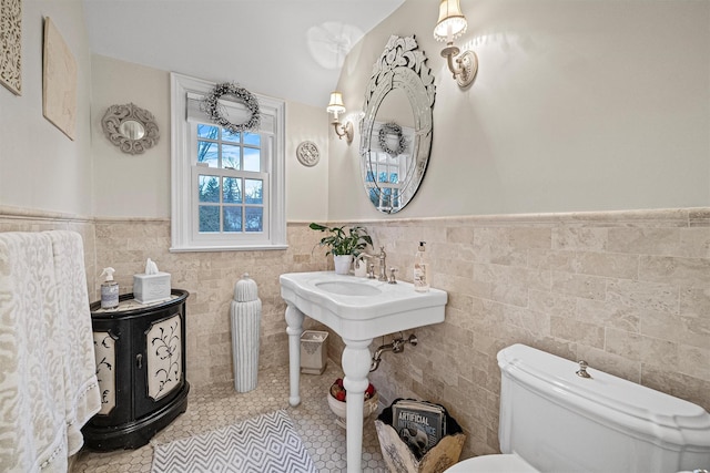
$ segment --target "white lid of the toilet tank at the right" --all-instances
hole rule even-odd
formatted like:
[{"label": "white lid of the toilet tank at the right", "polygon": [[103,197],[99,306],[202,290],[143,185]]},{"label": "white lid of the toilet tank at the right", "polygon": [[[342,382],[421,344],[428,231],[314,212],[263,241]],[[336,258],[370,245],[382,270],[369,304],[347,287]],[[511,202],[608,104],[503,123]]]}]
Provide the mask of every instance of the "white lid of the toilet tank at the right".
[{"label": "white lid of the toilet tank at the right", "polygon": [[498,352],[498,366],[548,399],[607,423],[676,445],[710,446],[710,414],[700,405],[525,346]]}]

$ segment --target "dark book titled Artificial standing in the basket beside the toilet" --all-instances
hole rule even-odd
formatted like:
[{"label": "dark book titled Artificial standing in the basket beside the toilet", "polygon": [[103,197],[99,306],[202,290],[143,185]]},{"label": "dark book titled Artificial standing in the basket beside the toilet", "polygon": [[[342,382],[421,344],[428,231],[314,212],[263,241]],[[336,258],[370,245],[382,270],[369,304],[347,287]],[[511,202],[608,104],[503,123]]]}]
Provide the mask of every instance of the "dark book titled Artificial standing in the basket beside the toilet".
[{"label": "dark book titled Artificial standing in the basket beside the toilet", "polygon": [[446,411],[430,402],[403,399],[392,404],[392,426],[420,460],[446,434]]}]

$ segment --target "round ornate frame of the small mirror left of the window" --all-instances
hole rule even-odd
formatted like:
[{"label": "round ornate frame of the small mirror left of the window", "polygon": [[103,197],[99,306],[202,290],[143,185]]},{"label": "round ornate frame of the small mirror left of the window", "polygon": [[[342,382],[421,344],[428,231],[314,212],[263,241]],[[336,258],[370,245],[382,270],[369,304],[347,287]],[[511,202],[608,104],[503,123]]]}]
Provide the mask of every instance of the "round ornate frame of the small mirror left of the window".
[{"label": "round ornate frame of the small mirror left of the window", "polygon": [[[143,125],[145,130],[143,137],[131,140],[121,133],[121,124],[130,121]],[[103,119],[101,119],[101,127],[106,138],[126,154],[141,154],[145,150],[153,147],[160,138],[158,123],[155,123],[153,114],[133,103],[111,105]]]}]

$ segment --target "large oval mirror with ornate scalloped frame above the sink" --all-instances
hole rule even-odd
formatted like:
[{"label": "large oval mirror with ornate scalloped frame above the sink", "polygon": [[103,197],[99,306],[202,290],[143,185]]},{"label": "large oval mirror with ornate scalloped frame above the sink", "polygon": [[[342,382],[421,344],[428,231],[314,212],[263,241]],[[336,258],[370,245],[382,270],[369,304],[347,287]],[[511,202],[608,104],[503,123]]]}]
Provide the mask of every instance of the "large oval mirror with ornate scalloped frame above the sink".
[{"label": "large oval mirror with ornate scalloped frame above the sink", "polygon": [[394,214],[414,197],[432,151],[434,76],[414,37],[393,35],[365,92],[361,172],[379,212]]}]

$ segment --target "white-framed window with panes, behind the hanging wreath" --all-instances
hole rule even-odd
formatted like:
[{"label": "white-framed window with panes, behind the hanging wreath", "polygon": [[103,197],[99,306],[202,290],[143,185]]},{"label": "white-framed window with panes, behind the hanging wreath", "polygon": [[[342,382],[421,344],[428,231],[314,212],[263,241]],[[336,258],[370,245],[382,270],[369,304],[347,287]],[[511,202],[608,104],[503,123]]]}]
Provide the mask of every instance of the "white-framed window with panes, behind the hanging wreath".
[{"label": "white-framed window with panes, behind the hanging wreath", "polygon": [[[171,74],[172,251],[286,248],[284,103],[254,94],[261,126],[232,133],[200,103],[215,84]],[[220,100],[232,123],[248,119]]]}]

